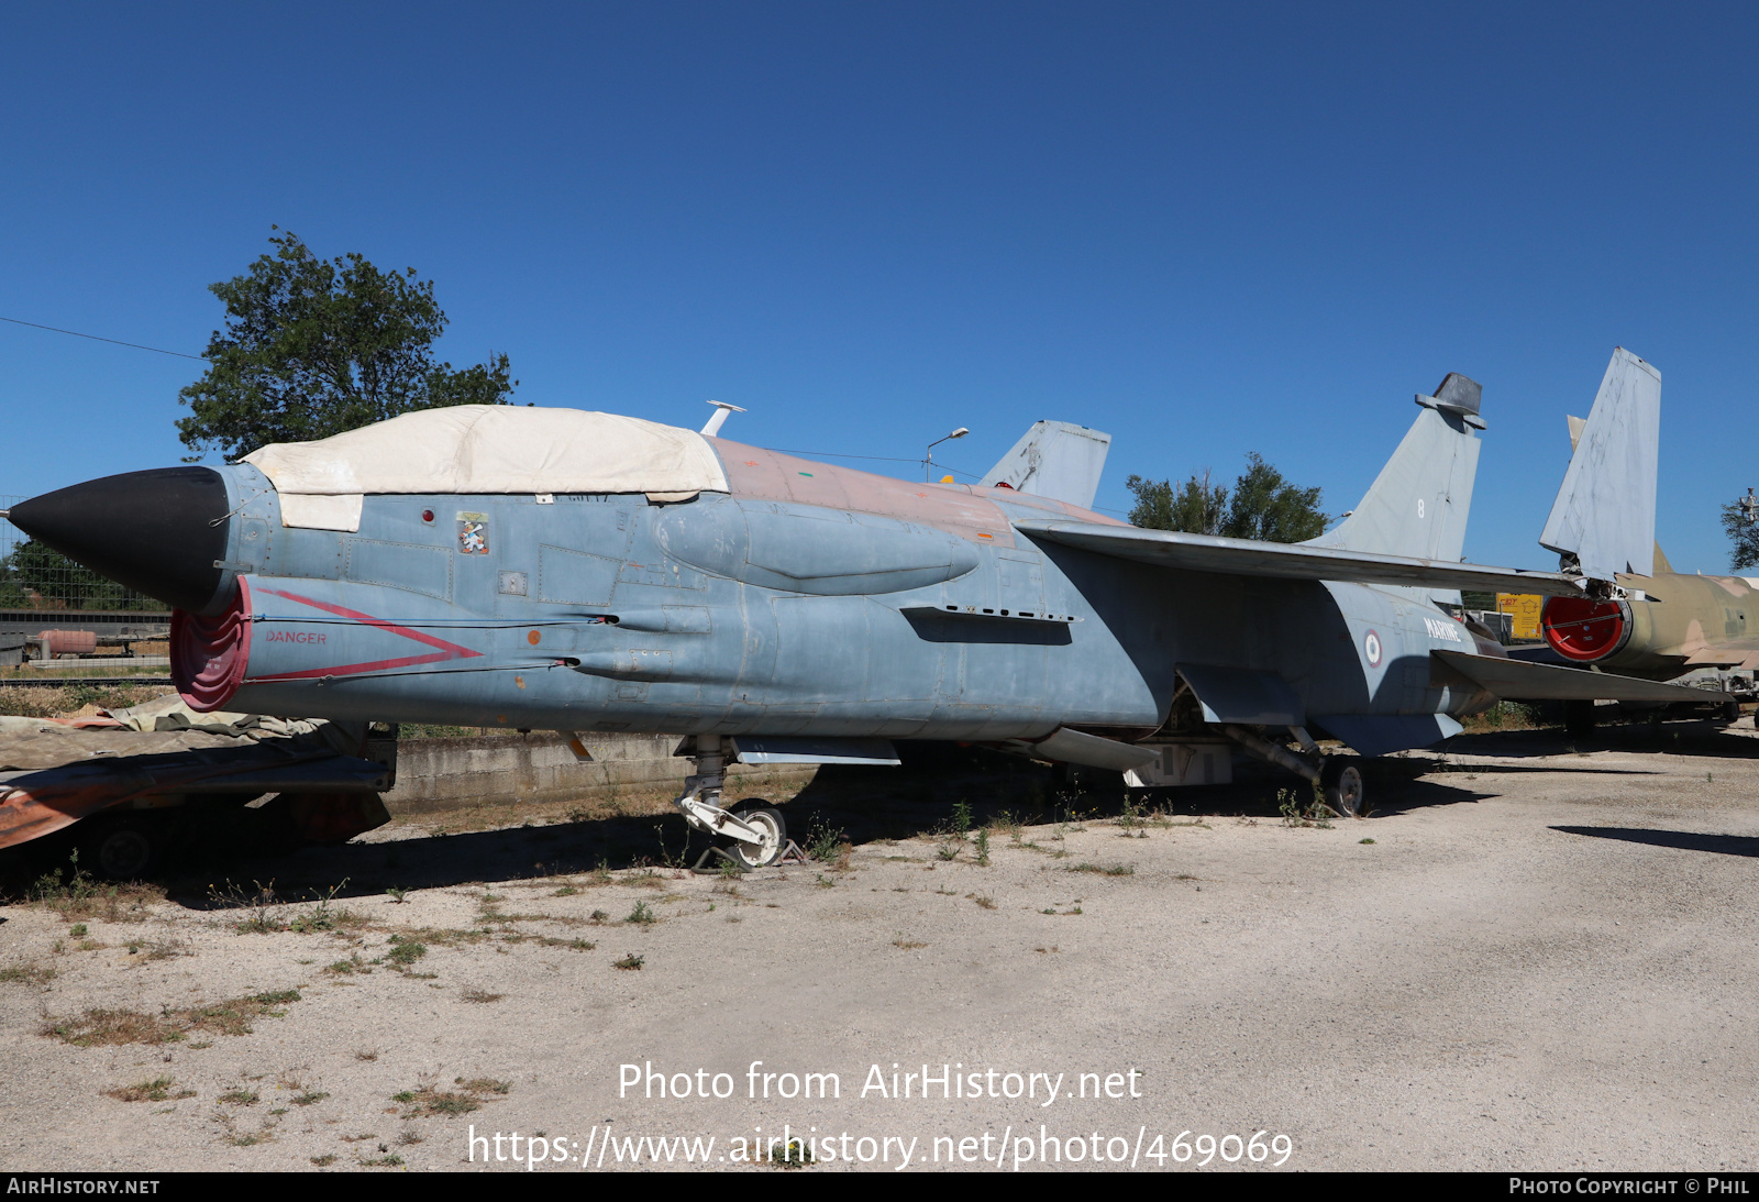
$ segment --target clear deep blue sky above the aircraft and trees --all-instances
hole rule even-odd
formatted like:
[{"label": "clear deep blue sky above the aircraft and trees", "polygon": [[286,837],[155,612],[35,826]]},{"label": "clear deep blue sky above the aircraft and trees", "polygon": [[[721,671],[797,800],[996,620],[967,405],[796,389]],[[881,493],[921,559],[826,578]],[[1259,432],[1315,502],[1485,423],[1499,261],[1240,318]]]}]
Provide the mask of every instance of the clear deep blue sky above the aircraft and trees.
[{"label": "clear deep blue sky above the aircraft and trees", "polygon": [[[1467,554],[1537,531],[1613,345],[1657,530],[1759,484],[1759,11],[1738,5],[9,5],[0,317],[199,354],[271,224],[413,266],[519,401],[982,472],[1258,451],[1354,505],[1446,371]],[[0,493],[176,463],[188,359],[0,324]],[[853,463],[853,461],[851,461]],[[862,465],[908,473],[908,463]]]}]

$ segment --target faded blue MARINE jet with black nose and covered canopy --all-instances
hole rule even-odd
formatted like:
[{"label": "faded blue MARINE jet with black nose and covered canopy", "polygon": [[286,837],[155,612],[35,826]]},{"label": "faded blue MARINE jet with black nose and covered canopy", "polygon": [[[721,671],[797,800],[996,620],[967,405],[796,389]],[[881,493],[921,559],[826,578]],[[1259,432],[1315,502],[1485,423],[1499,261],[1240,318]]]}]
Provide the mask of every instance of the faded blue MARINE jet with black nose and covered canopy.
[{"label": "faded blue MARINE jet with black nose and covered canopy", "polygon": [[679,734],[679,808],[767,864],[786,827],[721,806],[732,757],[895,764],[894,739],[943,739],[1182,783],[1191,748],[1238,744],[1360,813],[1360,760],[1316,736],[1381,755],[1499,697],[1694,692],[1514,663],[1455,616],[1462,588],[1581,595],[1462,561],[1479,399],[1462,375],[1418,396],[1361,503],[1298,546],[1094,512],[1110,438],[1066,422],[964,486],[475,405],[11,516],[174,605],[197,709],[549,729],[577,753]]}]

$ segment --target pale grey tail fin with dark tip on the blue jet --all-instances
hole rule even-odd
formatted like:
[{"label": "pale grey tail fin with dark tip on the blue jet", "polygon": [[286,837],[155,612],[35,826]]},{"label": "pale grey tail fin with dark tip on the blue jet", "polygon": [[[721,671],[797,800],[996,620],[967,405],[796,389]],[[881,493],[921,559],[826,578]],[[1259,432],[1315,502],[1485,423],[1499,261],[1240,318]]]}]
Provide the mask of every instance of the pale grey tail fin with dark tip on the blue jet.
[{"label": "pale grey tail fin with dark tip on the blue jet", "polygon": [[[1317,547],[1458,563],[1465,549],[1465,519],[1472,510],[1479,440],[1474,429],[1483,389],[1460,373],[1448,373],[1434,396],[1420,396],[1423,412],[1386,461],[1374,486],[1344,523],[1312,539]],[[1458,604],[1458,591],[1427,590],[1435,600]]]}]

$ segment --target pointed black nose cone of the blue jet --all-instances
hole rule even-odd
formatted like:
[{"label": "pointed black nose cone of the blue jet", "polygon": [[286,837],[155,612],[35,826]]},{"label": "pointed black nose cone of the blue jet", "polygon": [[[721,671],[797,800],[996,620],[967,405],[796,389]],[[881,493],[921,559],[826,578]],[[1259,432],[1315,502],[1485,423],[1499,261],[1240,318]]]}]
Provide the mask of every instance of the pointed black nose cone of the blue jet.
[{"label": "pointed black nose cone of the blue jet", "polygon": [[167,605],[218,600],[225,558],[225,480],[213,468],[155,468],[86,480],[12,507],[11,521],[118,584]]}]

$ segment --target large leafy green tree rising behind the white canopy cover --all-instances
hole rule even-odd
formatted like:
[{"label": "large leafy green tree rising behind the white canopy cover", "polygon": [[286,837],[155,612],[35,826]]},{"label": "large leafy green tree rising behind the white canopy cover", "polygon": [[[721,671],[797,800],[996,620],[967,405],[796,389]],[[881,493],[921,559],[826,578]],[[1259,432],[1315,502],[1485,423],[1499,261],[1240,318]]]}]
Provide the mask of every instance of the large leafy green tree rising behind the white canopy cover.
[{"label": "large leafy green tree rising behind the white canopy cover", "polygon": [[452,370],[433,343],[447,317],[415,268],[385,273],[361,255],[318,259],[296,234],[241,276],[209,285],[227,327],[208,373],[178,396],[192,451],[237,459],[271,442],[308,442],[443,405],[507,405],[507,355]]}]

